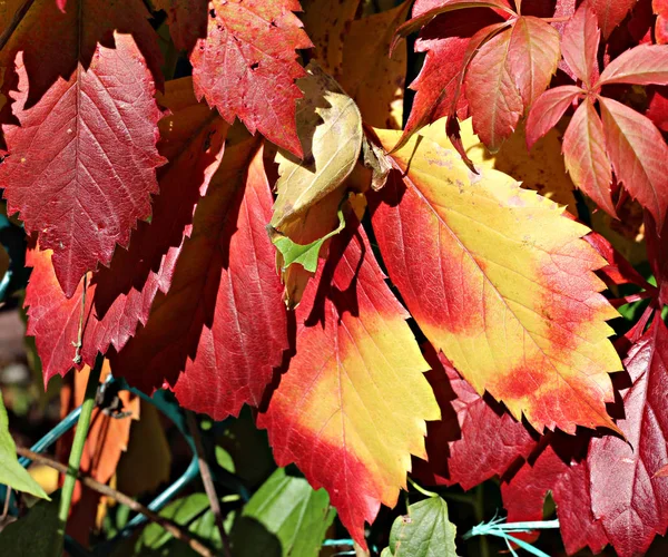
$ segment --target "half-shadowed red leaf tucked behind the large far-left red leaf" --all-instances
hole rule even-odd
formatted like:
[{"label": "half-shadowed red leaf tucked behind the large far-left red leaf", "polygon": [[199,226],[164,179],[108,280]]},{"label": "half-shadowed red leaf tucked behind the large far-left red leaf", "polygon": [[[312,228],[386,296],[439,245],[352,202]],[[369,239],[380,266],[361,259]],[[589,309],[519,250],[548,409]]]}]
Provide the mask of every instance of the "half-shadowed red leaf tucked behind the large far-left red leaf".
[{"label": "half-shadowed red leaf tucked behind the large far-left red leaf", "polygon": [[95,275],[85,306],[82,284],[69,300],[60,290],[50,252],[27,254],[27,265],[33,267],[26,289],[27,334],[35,336],[45,384],[65,375],[77,356],[94,365],[109,345],[120,350],[137,324],[146,324],[156,293],[169,287],[200,188],[206,190],[220,162],[227,125],[196,101],[189,79],[171,81],[161,102],[173,113],[160,121],[160,153],[169,164],[160,170],[161,195],[151,223],[140,223],[129,251],[117,250],[110,267]]}]

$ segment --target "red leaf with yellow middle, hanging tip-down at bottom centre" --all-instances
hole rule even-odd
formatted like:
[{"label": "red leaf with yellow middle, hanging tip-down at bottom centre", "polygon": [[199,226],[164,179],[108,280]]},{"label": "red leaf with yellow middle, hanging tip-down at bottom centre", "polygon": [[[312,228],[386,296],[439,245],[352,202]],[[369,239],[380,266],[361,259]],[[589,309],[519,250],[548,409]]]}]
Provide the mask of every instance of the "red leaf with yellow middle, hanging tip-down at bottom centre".
[{"label": "red leaf with yellow middle, hanging tip-down at bottom centre", "polygon": [[439,408],[406,312],[383,281],[352,212],[296,310],[296,354],[258,426],[278,466],[324,487],[357,544],[381,502],[405,487],[410,455],[425,457],[424,420]]}]

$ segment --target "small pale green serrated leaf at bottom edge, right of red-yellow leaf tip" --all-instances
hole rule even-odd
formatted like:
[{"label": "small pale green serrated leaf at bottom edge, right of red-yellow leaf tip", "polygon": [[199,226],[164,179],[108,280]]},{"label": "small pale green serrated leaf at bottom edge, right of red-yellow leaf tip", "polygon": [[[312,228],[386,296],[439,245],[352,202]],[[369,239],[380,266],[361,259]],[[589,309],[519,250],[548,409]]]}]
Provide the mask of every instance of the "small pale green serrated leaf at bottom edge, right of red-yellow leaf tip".
[{"label": "small pale green serrated leaf at bottom edge, right of red-yellow leaf tip", "polygon": [[390,547],[383,557],[456,557],[456,528],[448,518],[448,505],[430,497],[409,507],[390,531]]}]

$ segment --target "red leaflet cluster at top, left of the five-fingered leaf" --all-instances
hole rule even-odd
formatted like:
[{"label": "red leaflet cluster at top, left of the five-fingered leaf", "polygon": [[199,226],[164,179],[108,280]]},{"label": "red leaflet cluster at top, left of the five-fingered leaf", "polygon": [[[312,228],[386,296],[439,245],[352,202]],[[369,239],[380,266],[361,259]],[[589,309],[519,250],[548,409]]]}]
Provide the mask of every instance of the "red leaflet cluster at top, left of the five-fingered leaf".
[{"label": "red leaflet cluster at top, left of the five-fingered leaf", "polygon": [[[490,17],[497,18],[497,22],[456,13],[470,8],[492,8],[494,11]],[[456,27],[458,16],[461,26],[469,26],[470,29],[471,26],[475,27],[465,35],[456,33],[459,40],[446,41],[444,39],[451,35],[444,22],[451,18]],[[423,0],[413,8],[413,19],[397,29],[397,37],[404,37],[423,26],[419,40],[422,37],[431,39],[425,46],[428,50],[433,50],[433,59],[430,61],[428,56],[422,70],[424,77],[419,77],[419,81],[424,81],[420,87],[429,79],[433,81],[431,87],[441,92],[438,97],[432,94],[428,102],[416,98],[414,114],[411,114],[397,147],[404,145],[410,135],[424,124],[445,114],[454,117],[459,109],[459,96],[464,92],[473,117],[473,129],[492,153],[497,152],[557,71],[559,32],[541,18],[515,13],[504,0],[452,0],[438,3]],[[466,40],[465,37],[471,39]],[[423,46],[416,43],[415,48],[422,50]],[[444,68],[440,71],[430,70],[439,63]],[[462,82],[465,84],[463,91]],[[418,81],[414,85],[418,87]],[[443,97],[449,98],[449,109],[436,114],[434,108],[441,105]]]}]

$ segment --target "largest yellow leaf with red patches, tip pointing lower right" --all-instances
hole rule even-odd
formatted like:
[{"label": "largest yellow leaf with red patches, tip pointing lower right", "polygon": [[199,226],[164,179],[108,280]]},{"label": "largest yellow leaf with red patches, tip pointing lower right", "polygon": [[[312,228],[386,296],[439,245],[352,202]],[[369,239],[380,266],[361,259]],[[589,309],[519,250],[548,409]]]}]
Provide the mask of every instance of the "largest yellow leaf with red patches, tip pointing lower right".
[{"label": "largest yellow leaf with red patches, tip pointing lower right", "polygon": [[[376,133],[385,148],[395,143],[397,133]],[[538,431],[615,429],[605,403],[621,364],[606,320],[617,312],[599,293],[593,271],[605,261],[581,241],[588,229],[426,138],[392,158],[403,180],[393,173],[380,192],[373,227],[434,348]]]}]

